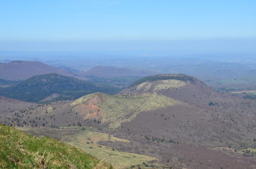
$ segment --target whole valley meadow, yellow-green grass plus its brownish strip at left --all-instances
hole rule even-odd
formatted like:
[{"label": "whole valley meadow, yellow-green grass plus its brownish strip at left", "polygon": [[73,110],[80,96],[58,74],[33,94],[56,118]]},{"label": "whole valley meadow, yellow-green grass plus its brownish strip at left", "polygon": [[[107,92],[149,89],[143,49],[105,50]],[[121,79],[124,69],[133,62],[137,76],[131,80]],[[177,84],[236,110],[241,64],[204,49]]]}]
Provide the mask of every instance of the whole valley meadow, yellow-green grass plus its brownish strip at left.
[{"label": "whole valley meadow, yellow-green grass plus its brownish strip at left", "polygon": [[[117,141],[130,143],[129,140],[114,137],[102,132],[97,132],[96,128],[84,127],[65,127],[64,129],[53,128],[19,128],[27,133],[43,137],[55,137],[63,143],[78,147],[85,153],[95,156],[99,160],[104,160],[110,163],[114,168],[130,168],[130,166],[141,165],[142,163],[148,164],[149,161],[158,161],[155,157],[146,155],[129,153],[116,150],[110,146],[103,146],[97,142],[102,140]],[[154,163],[154,165],[157,165]],[[143,166],[143,165],[142,165]]]}]

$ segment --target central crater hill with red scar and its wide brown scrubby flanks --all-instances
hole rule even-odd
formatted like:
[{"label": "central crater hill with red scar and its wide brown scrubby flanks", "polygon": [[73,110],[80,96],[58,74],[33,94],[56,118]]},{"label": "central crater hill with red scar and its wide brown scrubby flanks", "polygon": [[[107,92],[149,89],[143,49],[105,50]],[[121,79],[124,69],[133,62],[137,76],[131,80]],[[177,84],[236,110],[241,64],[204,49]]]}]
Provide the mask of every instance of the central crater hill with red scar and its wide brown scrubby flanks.
[{"label": "central crater hill with red scar and its wide brown scrubby flanks", "polygon": [[[97,92],[74,101],[47,105],[5,97],[0,101],[1,122],[8,125],[12,122],[17,126],[31,127],[95,126],[121,132],[129,128],[138,136],[150,133],[151,136],[162,137],[164,133],[165,138],[171,136],[176,142],[186,140],[187,143],[200,142],[205,146],[225,146],[228,143],[236,148],[253,147],[252,140],[256,138],[253,132],[256,119],[251,118],[253,113],[191,105],[156,92],[114,96]],[[15,104],[20,109],[13,106]],[[208,127],[202,129],[202,126]],[[167,131],[166,128],[172,130]],[[240,136],[240,132],[248,134]]]}]

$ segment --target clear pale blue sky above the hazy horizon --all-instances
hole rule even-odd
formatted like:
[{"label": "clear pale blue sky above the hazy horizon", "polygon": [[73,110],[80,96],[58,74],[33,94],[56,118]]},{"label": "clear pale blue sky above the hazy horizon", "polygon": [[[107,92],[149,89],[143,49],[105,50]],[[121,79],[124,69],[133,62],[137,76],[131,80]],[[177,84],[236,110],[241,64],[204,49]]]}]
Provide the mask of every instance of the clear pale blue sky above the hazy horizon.
[{"label": "clear pale blue sky above the hazy horizon", "polygon": [[256,53],[255,0],[0,1],[0,50]]}]

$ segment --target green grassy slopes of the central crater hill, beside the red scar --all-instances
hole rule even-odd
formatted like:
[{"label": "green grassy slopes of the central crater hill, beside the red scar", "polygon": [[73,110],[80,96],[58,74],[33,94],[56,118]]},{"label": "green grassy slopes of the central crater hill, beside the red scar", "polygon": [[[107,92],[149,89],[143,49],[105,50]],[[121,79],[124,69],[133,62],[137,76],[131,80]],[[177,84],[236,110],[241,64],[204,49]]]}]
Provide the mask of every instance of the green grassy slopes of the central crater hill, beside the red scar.
[{"label": "green grassy slopes of the central crater hill, beside the red scar", "polygon": [[[170,97],[166,97],[162,94],[156,95],[156,93],[146,93],[146,94],[139,93],[137,95],[134,94],[133,96],[129,96],[129,95],[111,96],[103,93],[93,93],[93,94],[85,95],[75,100],[71,105],[78,105],[82,103],[86,104],[87,101],[91,98],[94,98],[95,95],[101,98],[101,102],[99,104],[98,103],[94,103],[94,104],[101,107],[103,111],[104,118],[102,122],[103,123],[111,122],[109,126],[110,128],[118,128],[121,122],[131,120],[140,111],[161,109],[166,106],[171,106],[179,103],[178,101]],[[103,98],[104,98],[104,101],[103,101]],[[146,104],[143,107],[141,107],[144,103]]]}]

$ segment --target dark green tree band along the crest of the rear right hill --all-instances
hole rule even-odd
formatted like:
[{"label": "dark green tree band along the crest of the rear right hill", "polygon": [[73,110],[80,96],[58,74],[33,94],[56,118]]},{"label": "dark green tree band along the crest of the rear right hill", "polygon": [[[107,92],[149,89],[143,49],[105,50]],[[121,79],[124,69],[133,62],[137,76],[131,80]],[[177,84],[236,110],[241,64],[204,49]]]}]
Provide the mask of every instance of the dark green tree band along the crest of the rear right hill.
[{"label": "dark green tree band along the crest of the rear right hill", "polygon": [[166,75],[155,75],[155,76],[148,76],[142,79],[139,79],[135,82],[133,82],[131,85],[129,85],[128,87],[133,87],[135,85],[139,85],[142,84],[146,81],[160,81],[160,80],[171,80],[171,79],[175,79],[175,80],[180,80],[180,81],[189,81],[191,84],[195,83],[195,78],[188,76],[188,75],[183,75],[183,74],[166,74]]}]

